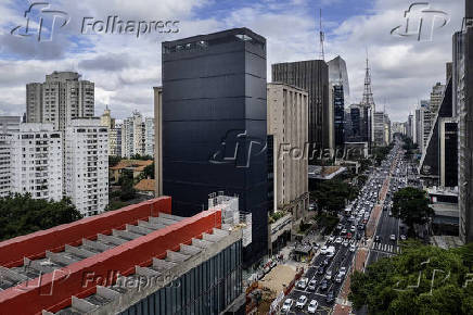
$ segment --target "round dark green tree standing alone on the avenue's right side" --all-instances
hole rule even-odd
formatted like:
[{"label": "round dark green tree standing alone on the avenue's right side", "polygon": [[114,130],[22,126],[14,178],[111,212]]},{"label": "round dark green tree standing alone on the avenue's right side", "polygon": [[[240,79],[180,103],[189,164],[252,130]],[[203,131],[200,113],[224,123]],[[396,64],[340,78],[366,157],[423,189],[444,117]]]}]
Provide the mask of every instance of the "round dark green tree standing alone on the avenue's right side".
[{"label": "round dark green tree standing alone on the avenue's right side", "polygon": [[406,187],[398,190],[393,197],[393,215],[402,219],[413,232],[414,224],[425,224],[434,215],[429,206],[429,199],[425,191],[413,187]]}]

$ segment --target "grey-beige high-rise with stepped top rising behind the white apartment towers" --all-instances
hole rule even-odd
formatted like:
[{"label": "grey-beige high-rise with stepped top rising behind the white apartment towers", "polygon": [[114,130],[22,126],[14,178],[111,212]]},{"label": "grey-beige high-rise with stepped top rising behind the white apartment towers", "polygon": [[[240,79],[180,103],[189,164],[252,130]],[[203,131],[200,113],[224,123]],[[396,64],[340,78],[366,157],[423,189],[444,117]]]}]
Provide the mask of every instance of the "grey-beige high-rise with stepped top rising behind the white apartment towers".
[{"label": "grey-beige high-rise with stepped top rising behind the white apartment towers", "polygon": [[71,119],[94,114],[94,84],[75,72],[53,72],[42,84],[26,85],[26,121],[64,130]]}]

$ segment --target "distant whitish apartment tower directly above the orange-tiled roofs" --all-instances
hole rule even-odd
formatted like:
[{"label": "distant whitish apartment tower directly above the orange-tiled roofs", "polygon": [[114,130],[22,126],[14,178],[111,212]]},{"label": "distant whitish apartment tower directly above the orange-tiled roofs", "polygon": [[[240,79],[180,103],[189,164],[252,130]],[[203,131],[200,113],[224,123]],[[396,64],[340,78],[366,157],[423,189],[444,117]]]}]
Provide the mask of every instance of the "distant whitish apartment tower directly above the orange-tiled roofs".
[{"label": "distant whitish apartment tower directly above the orange-tiled roofs", "polygon": [[143,135],[143,116],[135,111],[122,125],[122,156],[144,155]]}]

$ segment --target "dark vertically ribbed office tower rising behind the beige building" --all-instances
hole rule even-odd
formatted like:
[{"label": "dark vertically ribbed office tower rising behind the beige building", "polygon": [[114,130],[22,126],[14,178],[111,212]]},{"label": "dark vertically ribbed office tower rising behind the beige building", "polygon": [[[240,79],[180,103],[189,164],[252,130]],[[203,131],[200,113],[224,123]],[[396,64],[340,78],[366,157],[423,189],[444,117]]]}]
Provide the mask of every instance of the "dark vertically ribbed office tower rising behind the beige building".
[{"label": "dark vertically ribbed office tower rising behind the beige building", "polygon": [[[272,81],[289,84],[309,93],[309,142],[330,149],[329,66],[323,60],[272,65]],[[314,161],[309,161],[314,163]]]}]

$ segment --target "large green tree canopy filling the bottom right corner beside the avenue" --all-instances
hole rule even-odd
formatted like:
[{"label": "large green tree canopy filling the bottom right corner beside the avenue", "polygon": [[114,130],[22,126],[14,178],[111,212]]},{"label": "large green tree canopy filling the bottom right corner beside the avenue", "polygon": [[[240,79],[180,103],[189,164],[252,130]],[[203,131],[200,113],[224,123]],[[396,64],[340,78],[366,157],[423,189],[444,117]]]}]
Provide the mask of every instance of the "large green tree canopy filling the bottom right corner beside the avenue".
[{"label": "large green tree canopy filling the bottom right corner beside the avenue", "polygon": [[[443,250],[409,242],[402,253],[355,272],[348,299],[369,314],[472,314],[473,247]],[[470,274],[471,275],[471,274]]]}]

